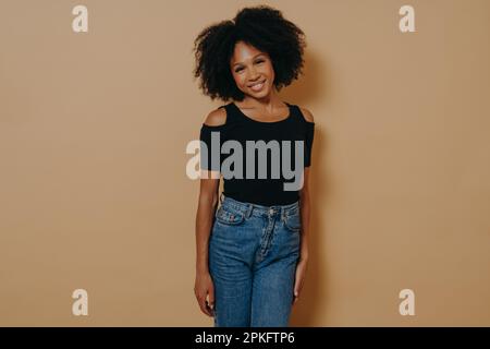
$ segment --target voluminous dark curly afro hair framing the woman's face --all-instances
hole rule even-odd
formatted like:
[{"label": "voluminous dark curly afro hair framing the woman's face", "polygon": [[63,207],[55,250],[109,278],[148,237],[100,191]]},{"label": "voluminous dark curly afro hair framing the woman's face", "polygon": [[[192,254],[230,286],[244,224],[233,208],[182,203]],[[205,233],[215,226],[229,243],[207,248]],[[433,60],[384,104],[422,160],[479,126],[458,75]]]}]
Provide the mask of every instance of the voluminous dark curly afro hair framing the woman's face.
[{"label": "voluminous dark curly afro hair framing the woman's face", "polygon": [[194,77],[200,77],[199,87],[211,100],[243,100],[245,97],[236,86],[230,68],[236,41],[244,41],[269,55],[275,75],[273,84],[278,91],[302,74],[306,47],[303,31],[273,8],[245,8],[233,21],[206,27],[194,41]]}]

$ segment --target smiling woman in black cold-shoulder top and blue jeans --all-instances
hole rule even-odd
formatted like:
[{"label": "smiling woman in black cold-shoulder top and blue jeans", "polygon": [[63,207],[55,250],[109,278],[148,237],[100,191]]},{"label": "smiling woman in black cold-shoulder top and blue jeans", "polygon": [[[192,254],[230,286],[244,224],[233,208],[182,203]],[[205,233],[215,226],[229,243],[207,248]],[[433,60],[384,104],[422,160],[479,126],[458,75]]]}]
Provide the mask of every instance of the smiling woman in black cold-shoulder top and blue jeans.
[{"label": "smiling woman in black cold-shoulder top and blue jeans", "polygon": [[[211,25],[195,40],[200,88],[211,99],[232,99],[200,129],[194,291],[215,326],[289,326],[299,297],[308,262],[315,122],[278,92],[302,73],[305,46],[304,33],[265,5],[243,9],[233,22]],[[224,144],[217,151],[213,133],[234,151]],[[254,157],[265,147],[267,156]],[[296,188],[287,164],[299,170]]]}]

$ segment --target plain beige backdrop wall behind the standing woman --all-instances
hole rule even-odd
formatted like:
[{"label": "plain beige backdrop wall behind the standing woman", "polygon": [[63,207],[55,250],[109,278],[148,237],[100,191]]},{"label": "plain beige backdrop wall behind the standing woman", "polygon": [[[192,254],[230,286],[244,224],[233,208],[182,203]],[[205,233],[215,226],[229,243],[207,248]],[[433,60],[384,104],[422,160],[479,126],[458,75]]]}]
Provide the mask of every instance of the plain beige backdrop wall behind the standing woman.
[{"label": "plain beige backdrop wall behind the standing woman", "polygon": [[[187,142],[195,36],[256,1],[0,1],[0,325],[211,326]],[[265,1],[317,123],[297,326],[490,325],[490,1]],[[88,316],[72,292],[88,291]],[[399,292],[415,292],[402,316]]]}]

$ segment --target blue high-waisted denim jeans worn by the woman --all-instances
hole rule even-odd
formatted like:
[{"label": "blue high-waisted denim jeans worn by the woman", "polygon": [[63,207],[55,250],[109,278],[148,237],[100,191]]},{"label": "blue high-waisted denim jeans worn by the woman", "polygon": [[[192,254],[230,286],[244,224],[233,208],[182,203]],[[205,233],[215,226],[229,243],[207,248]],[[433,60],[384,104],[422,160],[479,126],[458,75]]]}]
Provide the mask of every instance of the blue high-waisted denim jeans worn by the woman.
[{"label": "blue high-waisted denim jeans worn by the woman", "polygon": [[222,195],[209,240],[215,326],[287,327],[299,244],[299,202],[261,206]]}]

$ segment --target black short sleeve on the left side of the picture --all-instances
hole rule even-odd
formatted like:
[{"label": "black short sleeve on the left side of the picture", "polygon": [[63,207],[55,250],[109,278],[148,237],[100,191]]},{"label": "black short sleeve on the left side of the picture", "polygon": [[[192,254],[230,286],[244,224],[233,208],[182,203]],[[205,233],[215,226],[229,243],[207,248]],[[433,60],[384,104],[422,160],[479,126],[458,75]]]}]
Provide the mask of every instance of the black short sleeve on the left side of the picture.
[{"label": "black short sleeve on the left side of the picture", "polygon": [[223,130],[224,125],[210,127],[203,123],[199,135],[201,170],[220,171],[220,139],[222,139]]}]

